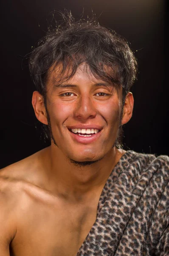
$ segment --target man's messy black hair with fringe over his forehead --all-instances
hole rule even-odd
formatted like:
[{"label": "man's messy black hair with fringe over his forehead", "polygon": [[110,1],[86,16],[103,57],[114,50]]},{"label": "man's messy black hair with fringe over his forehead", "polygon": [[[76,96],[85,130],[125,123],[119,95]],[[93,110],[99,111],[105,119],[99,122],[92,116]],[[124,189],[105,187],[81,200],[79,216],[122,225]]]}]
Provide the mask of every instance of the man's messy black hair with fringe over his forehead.
[{"label": "man's messy black hair with fringe over his forehead", "polygon": [[49,29],[29,60],[31,77],[44,98],[45,108],[50,70],[60,64],[59,82],[73,77],[79,65],[85,63],[96,79],[123,87],[124,103],[137,73],[137,61],[128,42],[101,26],[95,17],[76,21],[71,12],[62,13],[62,17],[62,23]]}]

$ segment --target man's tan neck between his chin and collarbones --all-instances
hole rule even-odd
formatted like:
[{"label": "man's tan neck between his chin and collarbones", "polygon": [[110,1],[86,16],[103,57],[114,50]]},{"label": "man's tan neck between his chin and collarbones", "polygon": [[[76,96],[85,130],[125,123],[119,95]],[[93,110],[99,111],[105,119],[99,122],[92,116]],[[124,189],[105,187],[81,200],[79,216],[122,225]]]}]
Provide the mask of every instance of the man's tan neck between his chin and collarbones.
[{"label": "man's tan neck between his chin and collarbones", "polygon": [[[45,149],[42,162],[45,179],[48,180],[50,190],[68,200],[78,200],[87,194],[101,190],[110,173],[125,151],[113,147],[107,155],[90,165],[73,163],[55,145]],[[45,161],[44,161],[45,159]],[[48,171],[46,171],[48,170]]]}]

